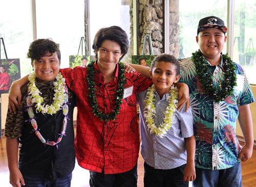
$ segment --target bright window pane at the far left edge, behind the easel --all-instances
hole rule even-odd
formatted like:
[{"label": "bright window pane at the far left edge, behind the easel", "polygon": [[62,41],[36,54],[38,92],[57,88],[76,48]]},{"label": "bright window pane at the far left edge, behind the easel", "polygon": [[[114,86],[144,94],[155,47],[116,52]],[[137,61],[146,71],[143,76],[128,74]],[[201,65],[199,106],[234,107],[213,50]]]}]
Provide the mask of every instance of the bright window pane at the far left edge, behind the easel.
[{"label": "bright window pane at the far left edge, behind the easel", "polygon": [[[26,59],[31,42],[31,4],[30,1],[0,0],[0,37],[4,39],[8,59],[19,59],[22,76],[32,68]],[[1,41],[1,59],[6,59]]]}]

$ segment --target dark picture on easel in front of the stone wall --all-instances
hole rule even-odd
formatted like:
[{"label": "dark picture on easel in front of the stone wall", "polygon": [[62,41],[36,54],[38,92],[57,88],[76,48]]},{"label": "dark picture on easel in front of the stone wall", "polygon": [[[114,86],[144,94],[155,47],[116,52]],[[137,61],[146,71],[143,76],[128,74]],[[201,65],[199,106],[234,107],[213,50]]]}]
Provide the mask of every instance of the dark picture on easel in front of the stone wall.
[{"label": "dark picture on easel in front of the stone wall", "polygon": [[[145,45],[146,45],[146,39],[148,39],[148,44],[150,48],[150,55],[144,55],[145,54]],[[152,47],[152,40],[150,35],[145,35],[144,42],[143,42],[143,49],[142,49],[142,55],[133,55],[132,56],[132,64],[139,64],[142,66],[150,67],[151,62],[156,57],[156,55],[153,55],[153,47]]]}]

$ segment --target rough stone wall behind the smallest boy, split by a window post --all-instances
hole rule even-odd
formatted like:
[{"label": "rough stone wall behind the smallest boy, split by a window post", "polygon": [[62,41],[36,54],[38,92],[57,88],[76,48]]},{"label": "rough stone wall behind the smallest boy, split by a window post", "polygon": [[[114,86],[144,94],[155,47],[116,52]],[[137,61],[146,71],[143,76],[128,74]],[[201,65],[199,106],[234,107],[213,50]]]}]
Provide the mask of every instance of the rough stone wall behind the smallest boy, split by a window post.
[{"label": "rough stone wall behind the smallest boy, split by a window post", "polygon": [[[169,12],[169,51],[166,53],[179,56],[179,1],[170,0]],[[142,54],[144,36],[150,34],[152,38],[153,53],[158,55],[164,52],[164,1],[163,0],[139,0],[138,1],[138,54]],[[131,19],[132,20],[132,19]],[[149,54],[147,43],[145,55]]]}]

